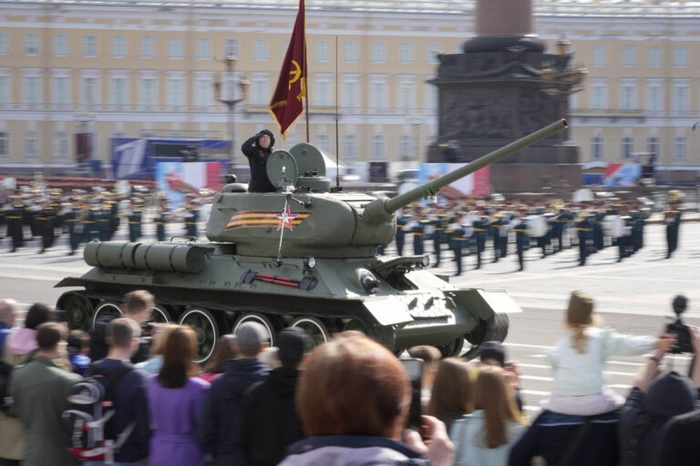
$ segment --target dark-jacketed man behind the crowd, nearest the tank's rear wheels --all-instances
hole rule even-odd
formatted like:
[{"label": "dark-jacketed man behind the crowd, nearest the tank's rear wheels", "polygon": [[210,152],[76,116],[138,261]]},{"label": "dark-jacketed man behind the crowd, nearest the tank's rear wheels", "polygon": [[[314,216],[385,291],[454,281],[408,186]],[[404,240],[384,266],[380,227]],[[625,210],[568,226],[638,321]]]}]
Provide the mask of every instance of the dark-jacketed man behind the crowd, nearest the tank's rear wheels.
[{"label": "dark-jacketed man behind the crowd, nearest the tank's rear wheels", "polygon": [[[155,306],[155,299],[145,289],[137,289],[130,291],[124,295],[124,304],[120,306],[123,317],[131,319],[141,327],[150,317],[150,313]],[[105,337],[107,336],[107,326],[110,321],[117,319],[118,315],[107,315],[99,318],[95,322],[95,327],[90,335],[90,352],[88,357],[90,360],[101,360],[107,355],[108,344]],[[137,364],[149,359],[149,343],[139,339],[139,348],[132,355],[131,362]]]}]

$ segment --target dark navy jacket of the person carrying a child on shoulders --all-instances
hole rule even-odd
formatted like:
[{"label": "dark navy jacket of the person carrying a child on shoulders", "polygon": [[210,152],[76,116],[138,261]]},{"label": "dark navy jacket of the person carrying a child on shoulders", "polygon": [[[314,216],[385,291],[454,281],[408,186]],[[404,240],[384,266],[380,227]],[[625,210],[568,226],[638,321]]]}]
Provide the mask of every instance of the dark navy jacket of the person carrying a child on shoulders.
[{"label": "dark navy jacket of the person carrying a child on shoulders", "polygon": [[[568,466],[616,466],[618,464],[617,411],[592,416],[591,427],[579,448],[571,455]],[[510,450],[510,466],[529,466],[541,456],[547,464],[559,464],[562,453],[585,421],[584,416],[571,416],[544,410],[530,429]]]}]

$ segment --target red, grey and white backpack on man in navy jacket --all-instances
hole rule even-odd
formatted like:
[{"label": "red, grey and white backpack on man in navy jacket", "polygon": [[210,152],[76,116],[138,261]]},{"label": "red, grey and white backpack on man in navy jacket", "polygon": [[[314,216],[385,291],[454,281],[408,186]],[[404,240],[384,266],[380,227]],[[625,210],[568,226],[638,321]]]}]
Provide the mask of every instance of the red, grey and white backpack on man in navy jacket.
[{"label": "red, grey and white backpack on man in navy jacket", "polygon": [[115,435],[108,425],[114,415],[110,389],[131,370],[133,366],[122,364],[108,374],[93,374],[70,390],[67,399],[71,409],[64,411],[62,418],[70,432],[67,450],[77,460],[113,463],[115,453],[136,427],[136,420],[132,420]]}]

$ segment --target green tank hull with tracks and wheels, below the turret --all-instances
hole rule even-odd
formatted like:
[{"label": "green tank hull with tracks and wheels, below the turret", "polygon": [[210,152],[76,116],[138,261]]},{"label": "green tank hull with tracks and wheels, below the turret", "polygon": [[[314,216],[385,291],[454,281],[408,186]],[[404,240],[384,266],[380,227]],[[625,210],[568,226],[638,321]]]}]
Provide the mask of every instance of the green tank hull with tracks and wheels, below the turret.
[{"label": "green tank hull with tracks and wheels, below the turret", "polygon": [[[202,339],[215,340],[234,330],[242,319],[263,319],[272,339],[276,331],[290,325],[305,325],[318,341],[355,329],[395,352],[427,344],[448,355],[457,346],[461,349],[457,341],[495,313],[488,304],[485,309],[471,306],[464,293],[474,290],[458,289],[421,269],[422,257],[318,258],[313,268],[307,260],[285,258],[277,267],[274,258],[231,254],[232,245],[226,243],[180,243],[171,248],[180,253],[180,262],[173,253],[170,268],[162,251],[172,244],[158,243],[154,248],[139,243],[89,243],[84,255],[88,264],[96,265],[82,277],[57,284],[83,287],[62,295],[57,309],[66,309],[71,328],[89,330],[103,315],[118,312],[125,293],[147,289],[156,297],[161,321],[192,325],[188,312],[195,309],[195,317],[201,318],[195,324],[203,322],[206,327],[198,334],[207,347],[201,352],[202,360],[212,349],[212,342]],[[100,257],[98,248],[110,251],[109,260]],[[144,248],[161,252],[151,257]],[[122,267],[130,263],[129,257],[115,258],[116,251],[130,251],[142,266]],[[182,265],[181,258],[192,256],[198,259],[190,261],[196,267]],[[144,265],[147,262],[150,266]],[[366,273],[376,278],[376,288],[365,288],[361,277]],[[507,310],[520,309],[513,303]],[[505,334],[500,336],[504,338]]]}]

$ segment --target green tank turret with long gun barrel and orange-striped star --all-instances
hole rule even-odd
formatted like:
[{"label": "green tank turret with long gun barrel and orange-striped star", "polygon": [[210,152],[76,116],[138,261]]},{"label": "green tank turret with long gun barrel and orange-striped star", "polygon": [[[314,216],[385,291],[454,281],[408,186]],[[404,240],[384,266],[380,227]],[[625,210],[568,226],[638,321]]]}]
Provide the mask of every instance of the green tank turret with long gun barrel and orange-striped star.
[{"label": "green tank turret with long gun barrel and orange-striped star", "polygon": [[396,210],[420,198],[434,196],[441,187],[508,157],[523,147],[567,127],[566,120],[523,137],[480,157],[464,167],[431,180],[396,198],[374,198],[331,188],[325,177],[324,157],[309,144],[289,151],[277,150],[268,161],[268,177],[274,193],[245,192],[240,184],[227,185],[213,200],[207,237],[235,243],[242,256],[304,258],[363,258],[376,254],[376,247],[390,243],[396,233]]}]

